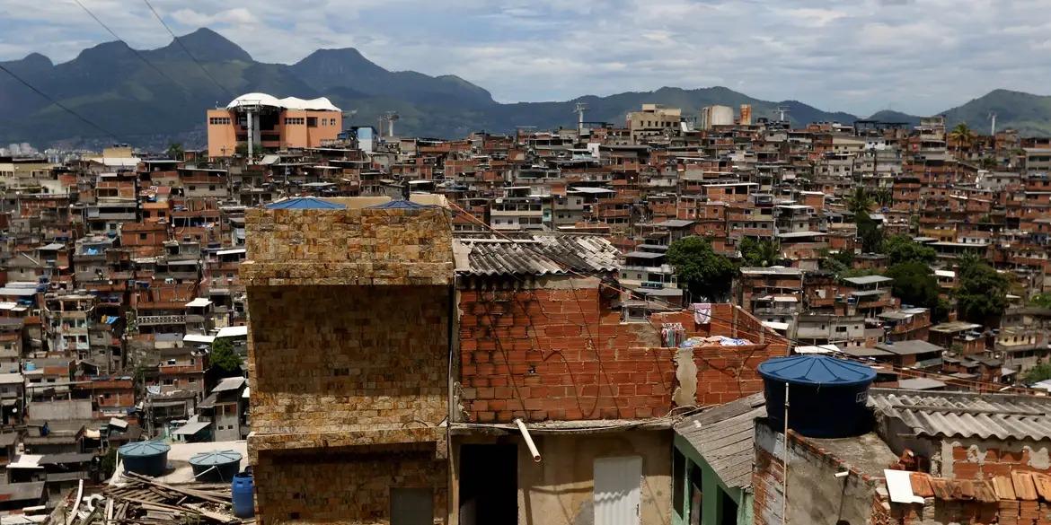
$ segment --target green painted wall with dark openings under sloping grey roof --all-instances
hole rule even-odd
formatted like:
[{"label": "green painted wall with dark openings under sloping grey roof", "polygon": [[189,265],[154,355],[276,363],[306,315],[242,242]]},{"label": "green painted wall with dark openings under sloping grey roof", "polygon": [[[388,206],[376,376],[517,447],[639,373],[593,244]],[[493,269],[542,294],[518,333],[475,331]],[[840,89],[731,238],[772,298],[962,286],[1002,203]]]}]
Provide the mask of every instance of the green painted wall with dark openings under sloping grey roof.
[{"label": "green painted wall with dark openings under sloping grey roof", "polygon": [[[700,453],[694,448],[685,438],[676,434],[675,448],[686,458],[686,468],[683,474],[682,484],[682,508],[672,509],[672,525],[686,525],[689,523],[689,496],[693,491],[691,484],[691,472],[693,465],[697,465],[701,470],[701,491],[703,501],[701,502],[701,524],[720,525],[723,513],[733,511],[731,508],[723,508],[722,492],[725,492],[737,504],[736,523],[737,525],[751,525],[753,522],[753,496],[750,490],[727,487],[715,470],[708,465]],[[673,474],[674,476],[674,474]],[[673,487],[675,486],[673,480]],[[674,500],[673,500],[674,501]]]}]

